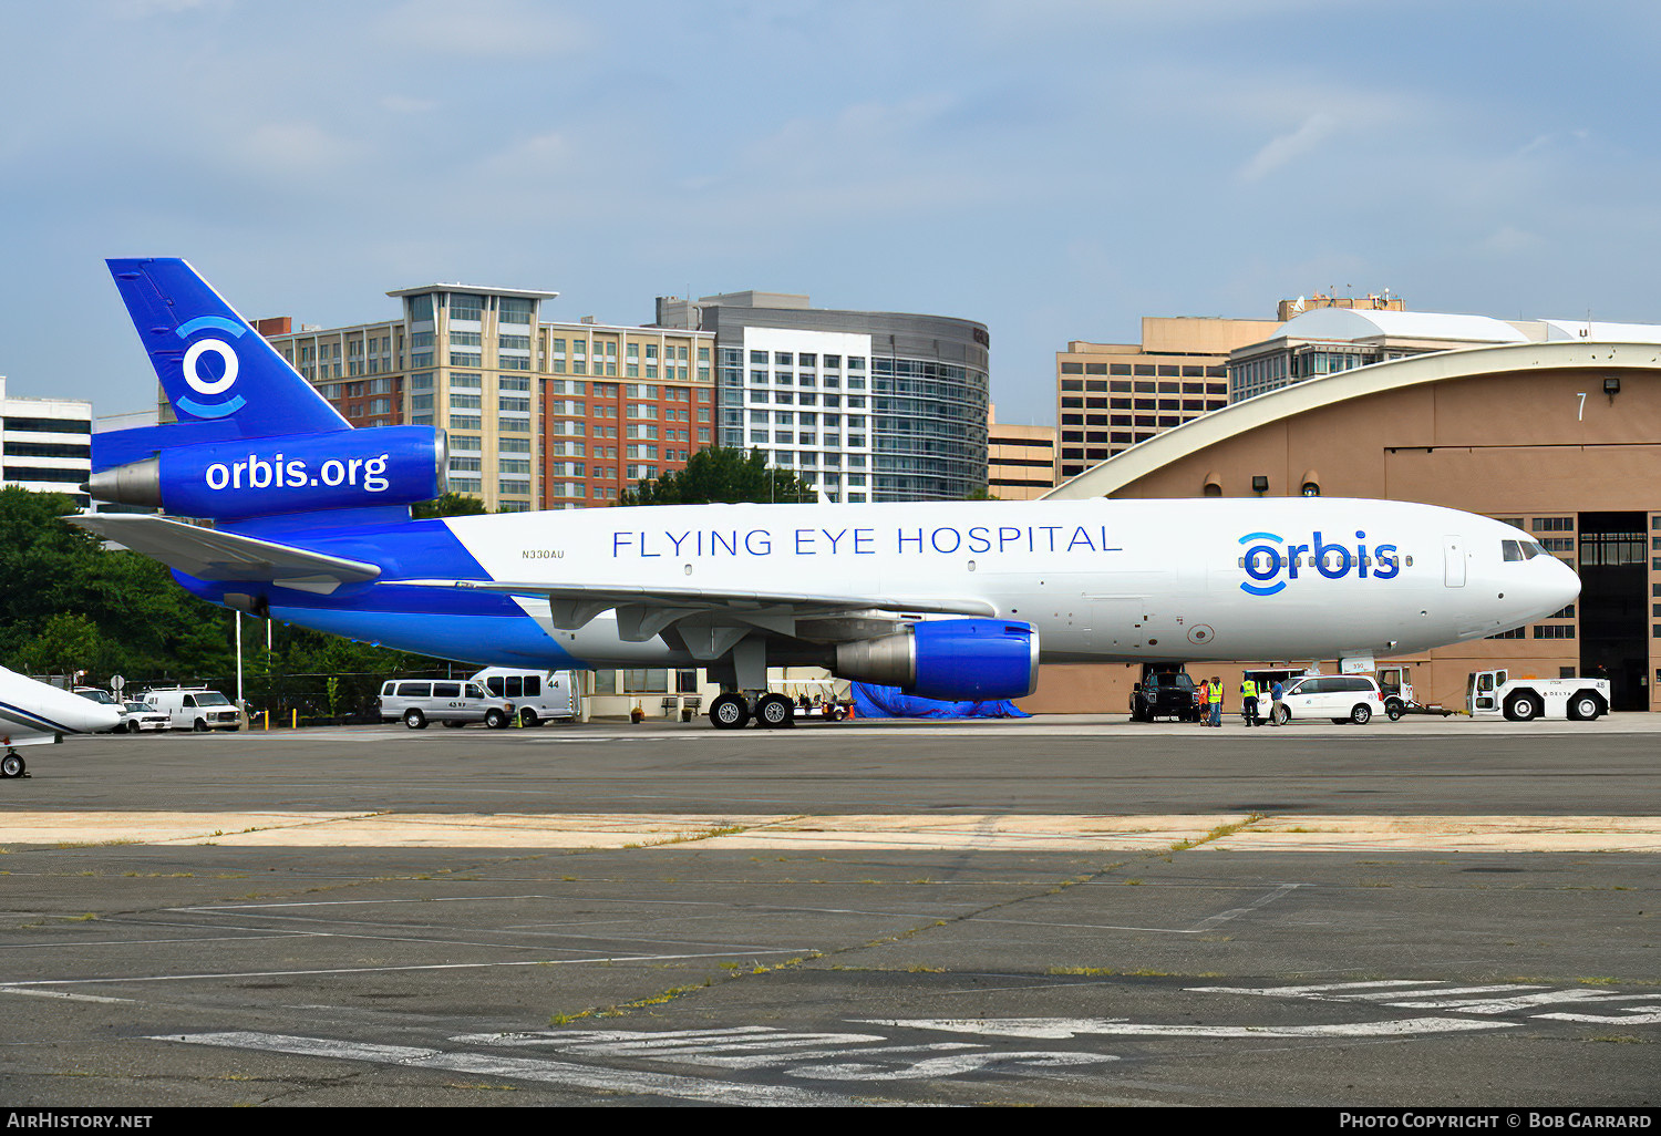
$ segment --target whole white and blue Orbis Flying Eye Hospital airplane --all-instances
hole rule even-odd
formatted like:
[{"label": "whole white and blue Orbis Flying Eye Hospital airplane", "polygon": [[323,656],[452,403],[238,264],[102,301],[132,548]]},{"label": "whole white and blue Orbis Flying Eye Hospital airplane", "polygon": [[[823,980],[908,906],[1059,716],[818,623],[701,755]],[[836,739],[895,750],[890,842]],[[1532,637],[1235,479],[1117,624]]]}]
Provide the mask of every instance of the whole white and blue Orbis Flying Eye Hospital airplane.
[{"label": "whole white and blue Orbis Flying Eye Hospital airplane", "polygon": [[354,430],[184,261],[110,261],[178,422],[93,435],[75,523],[241,611],[478,663],[709,668],[721,727],[792,721],[767,666],[942,699],[1040,663],[1365,666],[1543,618],[1580,580],[1526,533],[1344,498],[688,505],[410,520],[445,433]]}]

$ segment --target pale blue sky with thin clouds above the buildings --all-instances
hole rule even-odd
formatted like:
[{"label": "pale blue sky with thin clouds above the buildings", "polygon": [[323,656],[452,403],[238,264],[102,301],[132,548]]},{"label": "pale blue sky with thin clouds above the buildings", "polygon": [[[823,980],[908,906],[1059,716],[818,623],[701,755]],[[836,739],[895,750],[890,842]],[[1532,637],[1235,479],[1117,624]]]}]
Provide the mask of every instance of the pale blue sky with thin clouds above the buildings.
[{"label": "pale blue sky with thin clouds above the buildings", "polygon": [[247,317],[762,289],[975,319],[1003,422],[1143,316],[1661,322],[1661,5],[0,0],[0,375],[153,405],[111,256]]}]

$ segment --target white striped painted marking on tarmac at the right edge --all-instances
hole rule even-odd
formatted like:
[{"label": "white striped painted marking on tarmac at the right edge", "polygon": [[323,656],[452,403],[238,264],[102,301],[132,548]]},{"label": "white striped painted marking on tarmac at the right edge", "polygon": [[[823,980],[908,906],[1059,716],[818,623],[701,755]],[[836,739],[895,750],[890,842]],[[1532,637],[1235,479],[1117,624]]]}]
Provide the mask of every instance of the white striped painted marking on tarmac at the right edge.
[{"label": "white striped painted marking on tarmac at the right edge", "polygon": [[[1498,983],[1485,987],[1457,987],[1427,980],[1384,982],[1334,982],[1311,987],[1189,987],[1196,993],[1264,995],[1271,998],[1302,998],[1312,1001],[1374,1001],[1400,1010],[1447,1010],[1452,1013],[1502,1015],[1560,1003],[1628,1003],[1623,1016],[1575,1016],[1568,1013],[1535,1013],[1531,1018],[1558,1021],[1618,1021],[1623,1025],[1656,1025],[1661,1013],[1649,1013],[1649,1005],[1661,1001],[1661,993],[1623,993],[1616,990],[1588,990],[1585,987],[1560,987],[1541,983]],[[1533,992],[1533,993],[1528,993]],[[1510,995],[1503,998],[1472,998],[1470,995]],[[1626,1016],[1629,1015],[1629,1016]]]}]

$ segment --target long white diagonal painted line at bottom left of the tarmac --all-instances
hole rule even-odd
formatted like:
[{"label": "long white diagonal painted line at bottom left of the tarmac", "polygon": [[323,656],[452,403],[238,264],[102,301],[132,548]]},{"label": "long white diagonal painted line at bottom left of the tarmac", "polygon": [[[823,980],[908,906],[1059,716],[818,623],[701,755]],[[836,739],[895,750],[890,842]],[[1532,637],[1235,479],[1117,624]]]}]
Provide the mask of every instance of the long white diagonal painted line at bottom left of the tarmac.
[{"label": "long white diagonal painted line at bottom left of the tarmac", "polygon": [[568,1088],[596,1089],[601,1093],[669,1096],[684,1101],[709,1101],[713,1104],[849,1106],[859,1103],[847,1096],[797,1088],[708,1081],[691,1076],[639,1073],[633,1070],[603,1070],[591,1065],[548,1061],[543,1058],[508,1058],[492,1056],[487,1053],[447,1053],[443,1050],[367,1045],[355,1041],[336,1041],[331,1038],[297,1038],[277,1033],[186,1033],[154,1036],[151,1040],[257,1050],[262,1053],[292,1053],[344,1061],[372,1061],[377,1065],[447,1070],[452,1073],[472,1073],[483,1076],[508,1076],[515,1080],[563,1085]]}]

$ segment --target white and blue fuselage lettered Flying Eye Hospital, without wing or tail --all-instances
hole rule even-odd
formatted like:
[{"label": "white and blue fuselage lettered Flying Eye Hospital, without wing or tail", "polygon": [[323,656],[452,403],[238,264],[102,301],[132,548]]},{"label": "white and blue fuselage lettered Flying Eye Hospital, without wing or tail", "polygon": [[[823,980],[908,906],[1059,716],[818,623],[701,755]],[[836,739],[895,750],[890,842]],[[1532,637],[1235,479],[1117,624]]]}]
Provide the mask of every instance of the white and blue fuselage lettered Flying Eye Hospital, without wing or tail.
[{"label": "white and blue fuselage lettered Flying Eye Hospital, without wing or tail", "polygon": [[[769,618],[789,616],[767,593],[864,595],[874,608],[892,598],[902,613],[907,600],[958,603],[965,615],[978,605],[1033,624],[1053,663],[1407,654],[1541,618],[1580,586],[1553,556],[1503,560],[1502,541],[1528,538],[1500,521],[1345,498],[598,508],[314,528],[286,540],[375,560],[384,573],[332,595],[276,588],[276,618],[473,663],[548,668],[701,661],[674,636],[630,641],[613,610],[570,626],[533,595],[581,581],[644,596],[754,591],[762,633]],[[440,591],[435,580],[523,588]],[[209,598],[234,588],[189,583]],[[774,658],[816,661],[812,619],[796,618],[792,633],[771,636]]]}]

